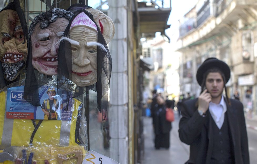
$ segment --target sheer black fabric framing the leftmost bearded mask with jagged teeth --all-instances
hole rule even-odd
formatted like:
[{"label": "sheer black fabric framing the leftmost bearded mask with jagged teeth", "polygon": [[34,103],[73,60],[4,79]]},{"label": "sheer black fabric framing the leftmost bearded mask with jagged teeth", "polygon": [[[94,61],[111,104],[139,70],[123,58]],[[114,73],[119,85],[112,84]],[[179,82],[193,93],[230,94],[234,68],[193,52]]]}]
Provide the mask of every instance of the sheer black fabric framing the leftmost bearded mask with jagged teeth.
[{"label": "sheer black fabric framing the leftmost bearded mask with jagged teeth", "polygon": [[[20,20],[20,24],[22,26],[22,31],[24,34],[24,42],[22,44],[25,44],[26,39],[28,39],[28,28],[27,28],[27,21],[25,19],[25,14],[22,10],[22,8],[20,7],[20,2],[19,0],[14,0],[13,2],[10,2],[5,8],[3,8],[0,12],[2,12],[3,10],[14,10],[17,12],[19,20]],[[25,65],[24,65],[25,66]],[[22,70],[24,69],[24,66],[22,68]],[[21,71],[20,74],[23,74],[25,71]],[[0,61],[0,88],[4,88],[5,86],[18,81],[20,78],[20,74],[17,76],[16,79],[12,80],[12,81],[7,81],[4,78],[4,73],[3,73],[3,67],[2,67],[2,62]]]}]

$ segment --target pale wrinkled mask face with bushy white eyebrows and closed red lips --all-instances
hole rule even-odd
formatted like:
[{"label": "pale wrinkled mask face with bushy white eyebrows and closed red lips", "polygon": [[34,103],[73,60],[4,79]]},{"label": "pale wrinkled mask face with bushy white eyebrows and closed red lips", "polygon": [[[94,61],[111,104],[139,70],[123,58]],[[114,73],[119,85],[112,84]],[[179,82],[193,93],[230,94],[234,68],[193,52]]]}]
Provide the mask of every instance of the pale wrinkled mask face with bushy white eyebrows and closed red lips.
[{"label": "pale wrinkled mask face with bushy white eyebrows and closed red lips", "polygon": [[79,25],[70,30],[70,39],[79,42],[71,43],[72,81],[78,86],[89,86],[97,82],[97,31]]}]

